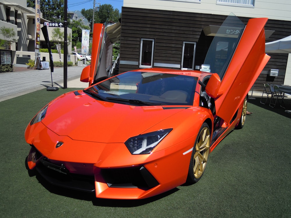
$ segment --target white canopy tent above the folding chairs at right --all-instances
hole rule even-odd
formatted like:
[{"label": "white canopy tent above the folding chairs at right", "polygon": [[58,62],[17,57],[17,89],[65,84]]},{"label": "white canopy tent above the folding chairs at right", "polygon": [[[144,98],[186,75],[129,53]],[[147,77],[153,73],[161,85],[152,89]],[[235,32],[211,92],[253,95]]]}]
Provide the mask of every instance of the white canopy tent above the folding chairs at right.
[{"label": "white canopy tent above the folding chairs at right", "polygon": [[265,45],[266,53],[291,53],[291,35]]}]

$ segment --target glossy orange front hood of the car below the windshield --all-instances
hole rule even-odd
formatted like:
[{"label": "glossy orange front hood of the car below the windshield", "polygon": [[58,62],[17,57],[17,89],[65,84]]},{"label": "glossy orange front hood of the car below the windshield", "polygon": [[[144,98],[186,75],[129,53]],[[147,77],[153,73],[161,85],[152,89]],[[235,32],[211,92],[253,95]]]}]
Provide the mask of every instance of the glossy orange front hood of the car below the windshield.
[{"label": "glossy orange front hood of the car below the windshield", "polygon": [[130,106],[99,101],[79,91],[52,101],[42,123],[54,133],[73,140],[117,143],[145,132],[182,110],[185,109],[165,110],[162,106]]}]

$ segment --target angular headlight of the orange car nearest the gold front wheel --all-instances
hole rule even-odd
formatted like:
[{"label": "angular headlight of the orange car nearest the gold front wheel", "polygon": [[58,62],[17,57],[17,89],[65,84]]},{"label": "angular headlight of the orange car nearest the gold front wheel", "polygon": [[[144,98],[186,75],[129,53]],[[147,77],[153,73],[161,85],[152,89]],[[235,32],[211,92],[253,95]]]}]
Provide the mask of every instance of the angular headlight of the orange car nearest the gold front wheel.
[{"label": "angular headlight of the orange car nearest the gold front wheel", "polygon": [[132,154],[148,154],[173,129],[163,129],[129,138],[125,145]]}]

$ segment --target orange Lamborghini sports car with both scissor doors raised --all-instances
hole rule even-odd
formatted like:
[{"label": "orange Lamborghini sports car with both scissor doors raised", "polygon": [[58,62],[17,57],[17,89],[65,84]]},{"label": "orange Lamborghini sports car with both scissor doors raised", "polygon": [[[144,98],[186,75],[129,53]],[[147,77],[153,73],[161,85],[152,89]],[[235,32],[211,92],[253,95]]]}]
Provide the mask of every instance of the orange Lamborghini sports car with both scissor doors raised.
[{"label": "orange Lamborghini sports car with both scissor doors raised", "polygon": [[106,31],[96,28],[91,66],[81,76],[91,86],[54,99],[30,121],[29,169],[108,199],[143,199],[196,183],[210,152],[244,126],[247,93],[269,60],[266,22],[245,26],[228,17],[200,71],[147,68],[110,78],[99,46]]}]

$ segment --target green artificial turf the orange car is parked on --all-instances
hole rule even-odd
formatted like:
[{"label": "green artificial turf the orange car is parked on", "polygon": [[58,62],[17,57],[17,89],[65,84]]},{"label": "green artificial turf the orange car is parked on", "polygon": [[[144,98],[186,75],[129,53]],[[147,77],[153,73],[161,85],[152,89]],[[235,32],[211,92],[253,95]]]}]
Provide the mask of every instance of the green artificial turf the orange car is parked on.
[{"label": "green artificial turf the orange car is parked on", "polygon": [[244,128],[214,149],[194,185],[122,201],[95,199],[29,175],[25,128],[49,101],[71,90],[43,89],[0,102],[1,217],[291,217],[291,114],[260,104],[260,98],[249,100],[253,114]]}]

